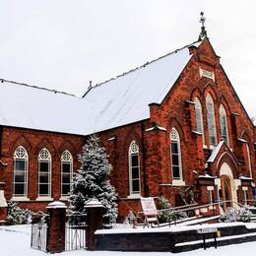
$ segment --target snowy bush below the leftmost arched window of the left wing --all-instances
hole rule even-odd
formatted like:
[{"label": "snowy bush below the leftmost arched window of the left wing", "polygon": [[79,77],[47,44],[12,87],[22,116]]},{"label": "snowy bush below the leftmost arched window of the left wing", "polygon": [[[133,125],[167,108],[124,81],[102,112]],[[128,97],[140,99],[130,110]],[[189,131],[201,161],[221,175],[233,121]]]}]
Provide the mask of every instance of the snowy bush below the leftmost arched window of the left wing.
[{"label": "snowy bush below the leftmost arched window of the left wing", "polygon": [[8,201],[7,204],[7,224],[30,224],[32,222],[32,211],[22,209],[12,201]]}]

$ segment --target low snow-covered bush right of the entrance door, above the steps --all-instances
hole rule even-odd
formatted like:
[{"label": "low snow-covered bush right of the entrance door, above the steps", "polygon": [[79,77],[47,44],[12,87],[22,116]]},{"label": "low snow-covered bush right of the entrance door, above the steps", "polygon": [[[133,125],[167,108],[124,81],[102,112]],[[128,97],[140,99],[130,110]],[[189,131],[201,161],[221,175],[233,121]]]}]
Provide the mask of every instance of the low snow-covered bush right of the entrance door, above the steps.
[{"label": "low snow-covered bush right of the entrance door, above the steps", "polygon": [[232,222],[243,222],[249,223],[251,221],[251,212],[246,208],[240,208],[234,210],[231,207],[228,207],[224,215],[221,215],[220,222],[223,223],[232,223]]}]

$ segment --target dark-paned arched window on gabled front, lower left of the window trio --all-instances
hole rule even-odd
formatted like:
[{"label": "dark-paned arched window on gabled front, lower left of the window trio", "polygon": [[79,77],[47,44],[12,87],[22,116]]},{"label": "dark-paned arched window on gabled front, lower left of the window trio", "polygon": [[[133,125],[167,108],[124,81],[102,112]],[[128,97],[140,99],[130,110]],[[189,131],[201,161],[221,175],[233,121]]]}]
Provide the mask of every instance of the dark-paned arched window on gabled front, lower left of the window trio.
[{"label": "dark-paned arched window on gabled front, lower left of the window trio", "polygon": [[170,155],[172,178],[182,180],[180,139],[175,128],[170,131]]}]

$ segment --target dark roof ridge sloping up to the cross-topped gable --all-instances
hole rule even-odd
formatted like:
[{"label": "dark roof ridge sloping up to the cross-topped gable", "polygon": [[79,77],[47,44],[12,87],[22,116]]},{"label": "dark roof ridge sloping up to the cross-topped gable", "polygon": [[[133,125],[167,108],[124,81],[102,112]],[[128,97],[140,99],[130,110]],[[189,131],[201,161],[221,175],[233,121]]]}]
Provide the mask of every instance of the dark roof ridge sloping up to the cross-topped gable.
[{"label": "dark roof ridge sloping up to the cross-topped gable", "polygon": [[187,45],[185,45],[185,46],[183,46],[183,47],[181,47],[181,48],[178,48],[178,49],[175,49],[174,51],[168,52],[168,53],[166,53],[165,55],[162,55],[162,56],[160,56],[160,57],[157,58],[157,59],[148,61],[148,62],[144,63],[143,65],[141,65],[141,66],[139,66],[139,67],[136,67],[136,68],[131,69],[131,70],[127,71],[127,72],[124,72],[124,73],[122,73],[122,74],[120,74],[120,75],[117,75],[116,77],[113,77],[113,78],[110,78],[110,79],[108,79],[108,80],[105,80],[105,81],[103,81],[103,82],[101,82],[101,83],[98,83],[98,84],[96,84],[95,86],[90,86],[90,87],[88,88],[87,92],[86,92],[82,97],[85,97],[92,89],[95,89],[95,88],[97,88],[97,87],[100,87],[100,86],[102,86],[102,85],[104,85],[104,84],[106,84],[106,83],[108,83],[108,82],[110,82],[110,81],[112,81],[112,80],[116,80],[116,79],[118,79],[118,78],[120,78],[120,77],[124,77],[124,76],[126,76],[126,75],[128,75],[128,74],[130,74],[130,73],[132,73],[132,72],[135,72],[136,70],[141,69],[141,68],[145,68],[145,67],[148,66],[149,64],[152,64],[152,63],[154,63],[154,62],[156,62],[156,61],[158,61],[158,60],[160,60],[160,59],[162,59],[162,58],[164,58],[164,57],[166,57],[166,56],[168,56],[168,55],[171,55],[171,54],[173,54],[173,53],[177,53],[177,52],[180,51],[180,50],[183,50],[183,49],[185,49],[185,48],[188,48],[188,47],[192,46],[193,44],[195,44],[195,43],[197,43],[197,42],[200,42],[200,40],[196,40],[196,41],[194,41],[194,42],[192,42],[192,43],[189,43],[189,44],[187,44]]}]

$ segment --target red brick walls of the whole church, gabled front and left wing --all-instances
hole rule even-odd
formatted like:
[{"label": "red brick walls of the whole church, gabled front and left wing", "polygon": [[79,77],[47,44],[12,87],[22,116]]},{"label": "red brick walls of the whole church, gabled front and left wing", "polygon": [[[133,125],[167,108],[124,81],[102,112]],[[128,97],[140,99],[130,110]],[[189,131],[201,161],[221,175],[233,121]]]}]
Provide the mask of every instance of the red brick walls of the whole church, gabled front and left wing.
[{"label": "red brick walls of the whole church, gabled front and left wing", "polygon": [[[149,105],[150,119],[99,133],[101,143],[106,148],[113,166],[110,180],[119,195],[121,216],[125,216],[128,209],[140,210],[139,200],[129,198],[128,150],[133,140],[140,148],[141,194],[143,196],[165,195],[172,205],[178,204],[178,187],[172,185],[171,175],[169,133],[172,127],[175,127],[181,139],[182,172],[185,184],[195,188],[199,193],[199,200],[204,196],[200,194],[201,188],[198,187],[197,176],[205,173],[205,162],[211,154],[205,100],[208,94],[211,94],[215,101],[218,141],[221,140],[220,105],[223,104],[226,110],[229,146],[232,149],[230,155],[234,154],[233,156],[242,163],[238,170],[235,169],[234,176],[237,178],[241,173],[249,176],[244,143],[237,141],[237,138],[242,138],[248,142],[255,181],[256,131],[224,73],[220,57],[216,55],[208,39],[205,39],[198,49],[191,47],[190,51],[194,54],[193,58],[162,103]],[[215,81],[201,78],[199,68],[214,72]],[[203,108],[205,144],[208,149],[203,149],[202,136],[193,132],[196,129],[196,123],[194,104],[191,101],[195,96],[200,99]],[[166,131],[156,128],[146,132],[146,129],[156,126],[164,127]],[[13,153],[18,146],[24,146],[30,157],[29,198],[31,202],[23,205],[30,204],[31,207],[40,209],[39,204],[34,204],[37,197],[38,152],[46,147],[52,155],[52,197],[57,200],[60,196],[61,154],[64,150],[72,153],[74,170],[76,170],[79,167],[77,155],[81,152],[84,143],[83,136],[3,127],[1,160],[8,166],[1,166],[3,172],[0,173],[0,181],[6,182],[6,198],[12,197]],[[213,175],[218,175],[215,167],[209,170]],[[217,192],[215,197],[217,198]],[[202,198],[202,201],[206,200],[207,198]],[[41,205],[44,207],[46,204],[41,203]]]}]

